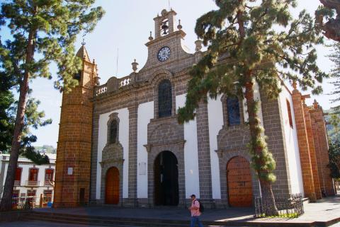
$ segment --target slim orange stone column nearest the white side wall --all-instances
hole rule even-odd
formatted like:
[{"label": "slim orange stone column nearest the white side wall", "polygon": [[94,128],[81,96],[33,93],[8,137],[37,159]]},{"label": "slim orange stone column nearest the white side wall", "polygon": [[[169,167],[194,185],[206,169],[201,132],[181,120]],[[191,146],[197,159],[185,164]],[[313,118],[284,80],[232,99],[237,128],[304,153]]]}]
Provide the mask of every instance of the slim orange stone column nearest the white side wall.
[{"label": "slim orange stone column nearest the white side wall", "polygon": [[312,172],[312,162],[310,158],[310,146],[308,144],[307,129],[305,124],[305,112],[302,105],[302,95],[295,88],[293,90],[293,108],[295,115],[295,124],[297,131],[297,140],[300,151],[300,161],[302,170],[303,189],[305,197],[314,202],[317,197],[314,189],[314,177]]}]

